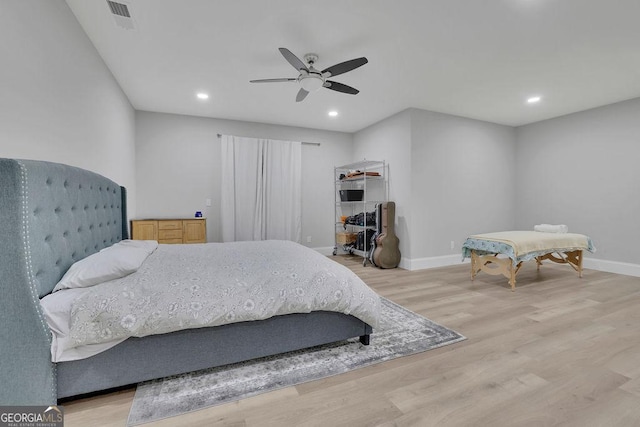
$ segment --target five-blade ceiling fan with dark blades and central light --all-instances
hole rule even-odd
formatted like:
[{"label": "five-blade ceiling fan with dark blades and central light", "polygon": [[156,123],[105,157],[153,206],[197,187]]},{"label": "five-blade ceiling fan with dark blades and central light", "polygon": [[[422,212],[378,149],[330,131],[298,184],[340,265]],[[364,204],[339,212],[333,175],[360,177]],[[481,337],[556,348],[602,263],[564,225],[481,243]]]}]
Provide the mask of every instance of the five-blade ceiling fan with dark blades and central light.
[{"label": "five-blade ceiling fan with dark blades and central light", "polygon": [[318,55],[315,53],[307,53],[304,56],[304,60],[309,64],[304,64],[297,56],[295,56],[287,48],[281,47],[280,53],[284,56],[289,64],[293,65],[293,68],[300,73],[296,78],[282,78],[282,79],[260,79],[250,80],[250,83],[276,83],[276,82],[298,82],[300,84],[300,90],[296,95],[296,102],[300,102],[309,95],[309,92],[314,92],[321,87],[335,90],[337,92],[348,93],[350,95],[357,95],[360,92],[351,86],[347,86],[342,83],[327,80],[330,77],[334,77],[340,74],[344,74],[348,71],[355,70],[358,67],[363,66],[367,62],[367,58],[356,58],[350,61],[341,62],[333,65],[329,68],[325,68],[322,71],[318,71],[313,67],[313,64],[318,60]]}]

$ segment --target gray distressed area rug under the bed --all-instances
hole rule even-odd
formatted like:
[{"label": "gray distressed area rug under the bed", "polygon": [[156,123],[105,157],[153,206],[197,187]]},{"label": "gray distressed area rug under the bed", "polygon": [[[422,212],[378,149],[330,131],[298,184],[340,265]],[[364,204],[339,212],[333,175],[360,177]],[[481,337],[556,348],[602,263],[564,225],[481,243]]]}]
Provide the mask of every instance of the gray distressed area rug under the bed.
[{"label": "gray distressed area rug under the bed", "polygon": [[382,298],[380,326],[357,338],[138,384],[129,426],[173,417],[466,339]]}]

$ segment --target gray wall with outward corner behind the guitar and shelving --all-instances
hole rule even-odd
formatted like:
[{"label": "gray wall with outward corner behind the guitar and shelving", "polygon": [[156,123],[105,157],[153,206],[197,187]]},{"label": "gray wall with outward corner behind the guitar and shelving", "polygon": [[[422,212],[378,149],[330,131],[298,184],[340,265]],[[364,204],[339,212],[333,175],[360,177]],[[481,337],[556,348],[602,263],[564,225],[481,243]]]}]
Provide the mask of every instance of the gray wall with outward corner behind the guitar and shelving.
[{"label": "gray wall with outward corner behind the guitar and shelving", "polygon": [[508,126],[419,109],[355,134],[354,161],[389,162],[404,267],[451,263],[433,258],[459,257],[469,234],[514,227],[514,139]]}]

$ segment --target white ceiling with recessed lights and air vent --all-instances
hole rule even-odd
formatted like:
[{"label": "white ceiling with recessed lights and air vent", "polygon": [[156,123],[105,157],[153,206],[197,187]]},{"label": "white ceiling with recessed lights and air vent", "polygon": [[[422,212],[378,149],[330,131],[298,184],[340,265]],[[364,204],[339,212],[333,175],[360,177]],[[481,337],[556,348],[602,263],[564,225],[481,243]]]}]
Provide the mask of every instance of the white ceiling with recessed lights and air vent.
[{"label": "white ceiling with recessed lights and air vent", "polygon": [[[138,110],[355,132],[409,107],[518,126],[640,96],[639,0],[122,2],[134,30],[67,0]],[[334,78],[360,94],[249,83],[297,77],[279,47],[367,57]]]}]

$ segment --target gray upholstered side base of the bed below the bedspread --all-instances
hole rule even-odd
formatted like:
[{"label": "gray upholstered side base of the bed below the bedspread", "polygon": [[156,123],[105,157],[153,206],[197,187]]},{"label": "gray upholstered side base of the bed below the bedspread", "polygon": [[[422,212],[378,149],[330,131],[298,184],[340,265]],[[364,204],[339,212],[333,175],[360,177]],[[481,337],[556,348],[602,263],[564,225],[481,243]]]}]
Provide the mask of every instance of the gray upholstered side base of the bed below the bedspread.
[{"label": "gray upholstered side base of the bed below the bedspread", "polygon": [[367,327],[321,311],[129,338],[88,359],[58,363],[58,398],[364,336]]}]

